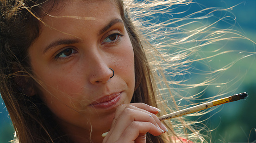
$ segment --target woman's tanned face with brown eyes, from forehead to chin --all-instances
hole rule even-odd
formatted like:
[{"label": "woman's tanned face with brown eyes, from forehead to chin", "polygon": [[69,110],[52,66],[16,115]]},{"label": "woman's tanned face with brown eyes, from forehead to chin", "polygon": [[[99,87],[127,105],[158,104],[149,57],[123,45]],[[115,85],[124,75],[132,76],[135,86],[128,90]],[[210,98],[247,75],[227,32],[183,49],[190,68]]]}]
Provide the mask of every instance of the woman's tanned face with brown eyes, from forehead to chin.
[{"label": "woman's tanned face with brown eyes, from forehead to chin", "polygon": [[49,15],[29,48],[39,94],[65,132],[100,136],[134,92],[133,48],[119,9],[111,0],[71,0]]}]

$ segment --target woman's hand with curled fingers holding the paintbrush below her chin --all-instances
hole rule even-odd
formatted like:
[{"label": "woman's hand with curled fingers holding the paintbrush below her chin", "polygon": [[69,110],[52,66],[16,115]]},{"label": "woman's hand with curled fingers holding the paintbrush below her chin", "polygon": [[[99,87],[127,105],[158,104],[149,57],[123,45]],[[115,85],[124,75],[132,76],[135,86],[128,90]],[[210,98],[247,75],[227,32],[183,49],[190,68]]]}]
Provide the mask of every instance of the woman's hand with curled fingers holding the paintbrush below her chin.
[{"label": "woman's hand with curled fingers holding the paintbrush below her chin", "polygon": [[167,128],[156,117],[160,110],[144,103],[119,105],[103,143],[146,143],[146,133],[159,136]]}]

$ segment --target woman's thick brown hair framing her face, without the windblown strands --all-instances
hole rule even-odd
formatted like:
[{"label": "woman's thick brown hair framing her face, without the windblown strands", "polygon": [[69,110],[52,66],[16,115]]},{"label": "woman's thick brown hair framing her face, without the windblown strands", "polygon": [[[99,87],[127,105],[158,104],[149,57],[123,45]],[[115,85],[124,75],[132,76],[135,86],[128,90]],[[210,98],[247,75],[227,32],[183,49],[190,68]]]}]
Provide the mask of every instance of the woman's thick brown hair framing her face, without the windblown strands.
[{"label": "woman's thick brown hair framing her face, without the windblown strands", "polygon": [[[30,68],[28,47],[40,33],[40,17],[45,6],[53,10],[57,0],[3,0],[0,19],[0,92],[21,143],[70,142],[52,120],[50,110],[38,95],[30,96],[37,84]],[[135,91],[131,102],[156,107],[156,86],[138,36],[121,0],[116,1],[135,55]],[[32,90],[31,90],[32,89]],[[147,142],[162,142],[147,136]]]}]

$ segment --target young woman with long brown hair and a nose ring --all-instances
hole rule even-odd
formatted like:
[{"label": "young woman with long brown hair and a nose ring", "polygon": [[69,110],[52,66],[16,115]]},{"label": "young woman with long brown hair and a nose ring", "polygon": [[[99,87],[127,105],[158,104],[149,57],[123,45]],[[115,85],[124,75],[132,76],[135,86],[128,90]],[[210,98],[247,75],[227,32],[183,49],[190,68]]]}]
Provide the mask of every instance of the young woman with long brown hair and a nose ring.
[{"label": "young woman with long brown hair and a nose ring", "polygon": [[205,141],[181,118],[175,133],[156,117],[172,111],[157,97],[169,83],[157,84],[157,51],[128,11],[121,0],[1,1],[0,93],[17,142]]}]

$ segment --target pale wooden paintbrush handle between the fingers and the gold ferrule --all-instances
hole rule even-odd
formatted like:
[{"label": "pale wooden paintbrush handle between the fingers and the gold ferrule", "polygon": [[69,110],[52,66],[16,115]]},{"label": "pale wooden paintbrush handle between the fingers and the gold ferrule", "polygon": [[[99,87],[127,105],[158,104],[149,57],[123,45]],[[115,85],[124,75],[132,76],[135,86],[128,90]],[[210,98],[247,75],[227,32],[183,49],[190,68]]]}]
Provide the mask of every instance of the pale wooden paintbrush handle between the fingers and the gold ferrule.
[{"label": "pale wooden paintbrush handle between the fingers and the gold ferrule", "polygon": [[161,120],[161,121],[168,120],[168,119],[179,117],[179,116],[182,116],[182,115],[185,115],[185,114],[194,113],[194,112],[204,110],[204,109],[207,109],[207,108],[211,108],[211,107],[213,107],[212,102],[207,102],[207,103],[196,105],[196,106],[193,106],[193,107],[190,107],[190,108],[187,108],[187,109],[183,109],[183,110],[180,110],[180,111],[177,111],[177,112],[174,112],[174,113],[163,115],[161,117],[158,117],[158,119]]}]

